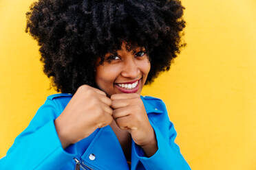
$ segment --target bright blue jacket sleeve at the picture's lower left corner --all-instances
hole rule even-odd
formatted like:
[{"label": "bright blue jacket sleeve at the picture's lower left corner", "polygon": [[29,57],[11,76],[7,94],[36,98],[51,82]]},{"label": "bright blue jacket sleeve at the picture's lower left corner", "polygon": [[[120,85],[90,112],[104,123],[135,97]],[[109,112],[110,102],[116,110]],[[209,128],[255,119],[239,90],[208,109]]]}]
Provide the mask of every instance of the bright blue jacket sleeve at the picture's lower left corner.
[{"label": "bright blue jacket sleeve at the picture's lower left corner", "polygon": [[0,169],[61,169],[74,158],[74,153],[65,151],[58,138],[54,125],[56,110],[55,102],[47,99],[1,158]]}]

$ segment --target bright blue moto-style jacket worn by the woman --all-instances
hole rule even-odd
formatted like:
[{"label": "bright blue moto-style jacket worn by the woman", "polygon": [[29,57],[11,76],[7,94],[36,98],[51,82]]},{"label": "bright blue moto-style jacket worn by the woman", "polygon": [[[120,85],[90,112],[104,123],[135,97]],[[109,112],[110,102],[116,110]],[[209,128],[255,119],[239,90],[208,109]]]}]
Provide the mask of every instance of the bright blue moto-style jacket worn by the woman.
[{"label": "bright blue moto-style jacket worn by the woman", "polygon": [[[129,166],[116,134],[109,125],[63,149],[54,120],[63,112],[72,95],[61,93],[47,97],[28,127],[0,160],[0,169],[100,169],[127,170]],[[149,121],[156,133],[158,151],[147,158],[142,148],[131,143],[131,169],[190,169],[174,143],[177,136],[160,99],[141,97]]]}]

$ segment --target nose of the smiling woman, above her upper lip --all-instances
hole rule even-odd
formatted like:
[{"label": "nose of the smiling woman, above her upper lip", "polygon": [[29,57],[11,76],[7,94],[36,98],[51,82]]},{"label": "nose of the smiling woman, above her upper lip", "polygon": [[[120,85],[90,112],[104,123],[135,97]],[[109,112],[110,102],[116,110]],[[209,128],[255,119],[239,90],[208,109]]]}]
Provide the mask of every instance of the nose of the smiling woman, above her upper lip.
[{"label": "nose of the smiling woman, above her upper lip", "polygon": [[139,77],[138,75],[140,75],[140,69],[136,64],[136,61],[134,60],[134,58],[129,58],[129,60],[125,61],[121,75],[123,77],[129,77],[129,78]]}]

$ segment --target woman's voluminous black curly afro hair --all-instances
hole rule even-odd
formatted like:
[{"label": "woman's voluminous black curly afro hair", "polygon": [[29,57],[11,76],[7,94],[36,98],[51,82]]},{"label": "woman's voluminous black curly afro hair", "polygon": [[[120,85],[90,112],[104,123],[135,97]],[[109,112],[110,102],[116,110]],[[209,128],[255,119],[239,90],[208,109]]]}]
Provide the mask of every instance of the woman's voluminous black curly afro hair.
[{"label": "woman's voluminous black curly afro hair", "polygon": [[183,10],[179,0],[39,0],[26,13],[25,32],[38,41],[43,72],[57,92],[96,87],[96,60],[122,42],[145,47],[150,84],[185,45]]}]

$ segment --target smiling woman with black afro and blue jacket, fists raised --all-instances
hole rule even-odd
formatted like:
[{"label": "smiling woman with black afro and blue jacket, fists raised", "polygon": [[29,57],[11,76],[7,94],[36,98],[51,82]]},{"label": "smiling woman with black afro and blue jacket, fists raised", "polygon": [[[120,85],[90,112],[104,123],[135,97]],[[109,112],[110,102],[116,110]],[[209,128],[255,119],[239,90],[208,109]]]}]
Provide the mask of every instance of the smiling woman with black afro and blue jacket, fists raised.
[{"label": "smiling woman with black afro and blue jacket, fists raised", "polygon": [[180,52],[180,1],[39,0],[47,97],[0,169],[190,169],[160,99],[141,97]]}]

